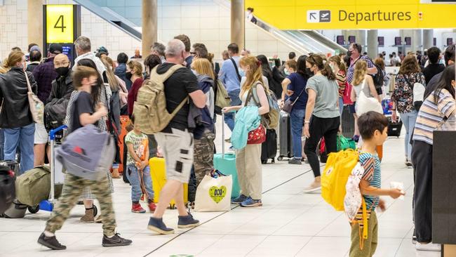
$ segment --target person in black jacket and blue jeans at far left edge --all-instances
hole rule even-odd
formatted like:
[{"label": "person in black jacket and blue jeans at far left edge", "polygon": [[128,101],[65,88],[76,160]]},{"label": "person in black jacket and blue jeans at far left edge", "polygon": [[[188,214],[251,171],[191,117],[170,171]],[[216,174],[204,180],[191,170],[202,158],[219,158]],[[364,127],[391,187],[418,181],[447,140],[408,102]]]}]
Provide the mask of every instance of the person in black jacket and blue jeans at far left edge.
[{"label": "person in black jacket and blue jeans at far left edge", "polygon": [[0,128],[4,131],[5,138],[4,159],[16,159],[16,150],[20,145],[20,173],[24,173],[34,167],[35,132],[27,98],[26,74],[34,93],[37,86],[33,74],[24,71],[25,54],[21,51],[11,52],[5,66],[8,72],[0,76]]}]

